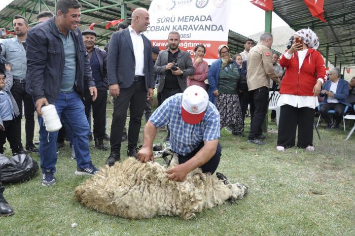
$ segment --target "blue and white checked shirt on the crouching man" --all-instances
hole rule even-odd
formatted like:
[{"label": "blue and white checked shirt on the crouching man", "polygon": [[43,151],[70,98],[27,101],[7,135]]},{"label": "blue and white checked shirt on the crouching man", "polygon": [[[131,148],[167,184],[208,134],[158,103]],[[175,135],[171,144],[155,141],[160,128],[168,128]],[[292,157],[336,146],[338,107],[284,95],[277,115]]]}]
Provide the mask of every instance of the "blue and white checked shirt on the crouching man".
[{"label": "blue and white checked shirt on the crouching man", "polygon": [[220,138],[220,114],[212,103],[208,102],[203,119],[198,124],[186,123],[181,117],[183,93],[177,93],[164,101],[149,120],[155,127],[169,125],[171,150],[186,156],[196,150],[203,141]]}]

